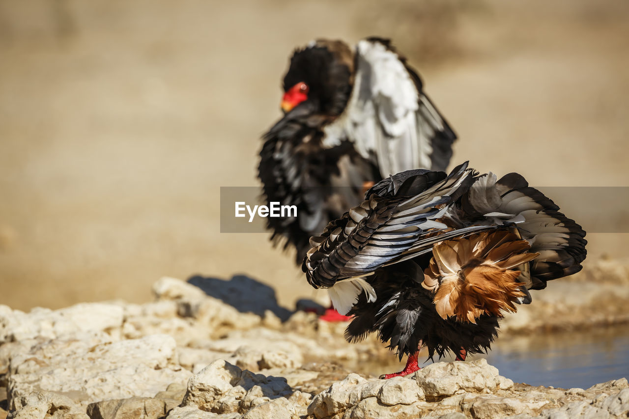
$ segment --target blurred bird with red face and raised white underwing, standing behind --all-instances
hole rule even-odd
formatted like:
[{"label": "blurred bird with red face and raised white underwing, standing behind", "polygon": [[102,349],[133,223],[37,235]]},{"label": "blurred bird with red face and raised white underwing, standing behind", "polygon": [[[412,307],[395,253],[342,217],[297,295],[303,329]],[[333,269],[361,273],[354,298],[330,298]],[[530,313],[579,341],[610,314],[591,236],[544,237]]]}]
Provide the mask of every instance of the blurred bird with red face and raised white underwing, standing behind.
[{"label": "blurred bird with red face and raised white underwing, standing behind", "polygon": [[301,264],[318,234],[367,187],[403,170],[445,170],[456,136],[420,77],[389,43],[317,40],[294,52],[284,117],[264,135],[258,173],[267,202],[298,216],[267,218],[274,243]]}]

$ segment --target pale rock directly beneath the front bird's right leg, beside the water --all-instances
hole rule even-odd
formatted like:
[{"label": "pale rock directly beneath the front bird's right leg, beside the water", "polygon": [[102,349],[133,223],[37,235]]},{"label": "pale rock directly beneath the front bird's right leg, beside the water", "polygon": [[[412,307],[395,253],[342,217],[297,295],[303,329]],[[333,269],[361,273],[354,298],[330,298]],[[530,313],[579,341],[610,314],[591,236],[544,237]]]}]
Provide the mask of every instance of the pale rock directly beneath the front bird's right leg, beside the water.
[{"label": "pale rock directly beneath the front bird's right leg, beside the water", "polygon": [[513,381],[498,375],[485,359],[471,362],[437,362],[415,373],[415,380],[426,396],[452,396],[459,391],[475,393],[508,389]]}]

